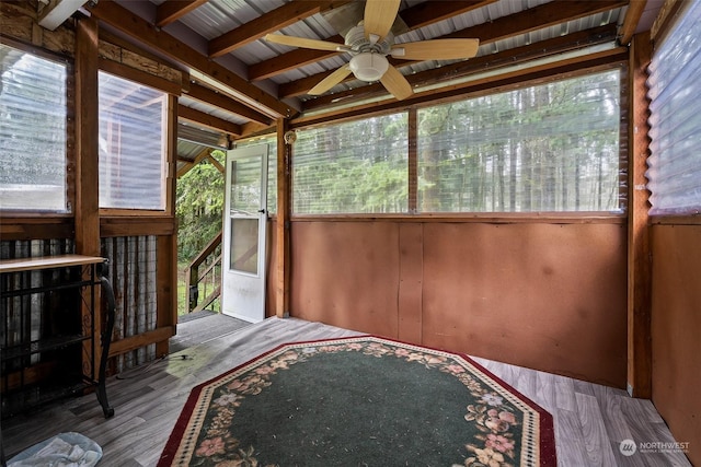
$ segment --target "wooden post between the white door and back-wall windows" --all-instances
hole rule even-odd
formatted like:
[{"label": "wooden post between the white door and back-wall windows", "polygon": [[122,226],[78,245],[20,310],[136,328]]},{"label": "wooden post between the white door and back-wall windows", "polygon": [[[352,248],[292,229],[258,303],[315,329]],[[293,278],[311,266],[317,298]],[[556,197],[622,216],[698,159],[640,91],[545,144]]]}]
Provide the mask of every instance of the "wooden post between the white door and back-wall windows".
[{"label": "wooden post between the white door and back-wall windows", "polygon": [[285,133],[288,130],[285,118],[277,120],[277,244],[275,258],[277,275],[275,279],[276,310],[278,317],[289,316],[289,215],[290,215],[290,165],[292,145],[285,142]]}]

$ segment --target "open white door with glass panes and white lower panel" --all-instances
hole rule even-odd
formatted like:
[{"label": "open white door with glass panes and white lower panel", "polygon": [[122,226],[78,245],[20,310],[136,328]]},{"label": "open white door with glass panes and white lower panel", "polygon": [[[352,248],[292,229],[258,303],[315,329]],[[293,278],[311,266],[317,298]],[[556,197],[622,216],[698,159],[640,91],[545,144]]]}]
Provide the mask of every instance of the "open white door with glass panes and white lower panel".
[{"label": "open white door with glass panes and white lower panel", "polygon": [[265,318],[267,144],[227,153],[221,312]]}]

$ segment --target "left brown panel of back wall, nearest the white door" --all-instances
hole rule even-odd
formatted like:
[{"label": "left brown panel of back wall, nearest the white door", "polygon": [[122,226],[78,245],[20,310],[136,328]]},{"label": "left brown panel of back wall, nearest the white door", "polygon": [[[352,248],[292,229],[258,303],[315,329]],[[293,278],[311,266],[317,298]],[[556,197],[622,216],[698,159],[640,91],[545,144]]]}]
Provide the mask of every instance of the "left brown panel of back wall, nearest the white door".
[{"label": "left brown panel of back wall, nearest the white door", "polygon": [[388,222],[292,222],[295,317],[398,336],[399,226]]}]

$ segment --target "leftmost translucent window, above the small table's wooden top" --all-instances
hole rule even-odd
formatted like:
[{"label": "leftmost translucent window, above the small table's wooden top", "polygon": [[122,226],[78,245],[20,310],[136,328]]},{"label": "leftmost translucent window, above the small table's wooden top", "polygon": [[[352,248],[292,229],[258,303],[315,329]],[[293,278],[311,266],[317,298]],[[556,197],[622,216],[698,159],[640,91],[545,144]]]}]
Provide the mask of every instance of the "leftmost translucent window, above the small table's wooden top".
[{"label": "leftmost translucent window, above the small table's wooden top", "polygon": [[0,209],[66,212],[66,65],[0,44]]}]

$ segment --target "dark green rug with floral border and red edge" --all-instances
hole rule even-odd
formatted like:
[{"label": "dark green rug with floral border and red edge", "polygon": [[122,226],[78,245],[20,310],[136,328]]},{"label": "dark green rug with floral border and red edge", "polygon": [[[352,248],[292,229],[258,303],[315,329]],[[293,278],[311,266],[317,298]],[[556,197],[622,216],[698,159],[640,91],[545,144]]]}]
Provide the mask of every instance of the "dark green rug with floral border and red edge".
[{"label": "dark green rug with floral border and red edge", "polygon": [[469,357],[287,343],[192,390],[159,466],[554,466],[552,417]]}]

